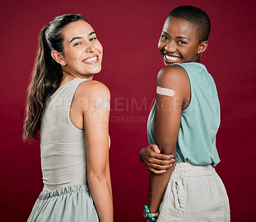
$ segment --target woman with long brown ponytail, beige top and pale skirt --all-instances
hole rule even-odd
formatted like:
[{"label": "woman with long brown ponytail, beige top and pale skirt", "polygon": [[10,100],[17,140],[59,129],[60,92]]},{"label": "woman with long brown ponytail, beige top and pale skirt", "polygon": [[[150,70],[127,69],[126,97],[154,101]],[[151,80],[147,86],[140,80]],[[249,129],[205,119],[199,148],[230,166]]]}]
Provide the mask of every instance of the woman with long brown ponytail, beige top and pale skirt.
[{"label": "woman with long brown ponytail, beige top and pale skirt", "polygon": [[28,221],[113,221],[108,88],[93,81],[102,45],[83,15],[45,26],[26,102],[24,141],[38,139],[44,189]]}]

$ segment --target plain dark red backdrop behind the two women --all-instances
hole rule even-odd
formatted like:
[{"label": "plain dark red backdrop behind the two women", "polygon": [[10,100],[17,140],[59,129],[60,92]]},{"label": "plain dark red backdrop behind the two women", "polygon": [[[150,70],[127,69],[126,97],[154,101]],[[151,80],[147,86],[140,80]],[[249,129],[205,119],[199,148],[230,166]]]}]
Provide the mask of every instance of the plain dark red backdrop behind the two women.
[{"label": "plain dark red backdrop behind the two women", "polygon": [[166,15],[180,4],[202,8],[211,19],[202,63],[214,77],[221,103],[216,170],[227,188],[232,221],[254,221],[255,1],[221,0],[1,0],[1,221],[26,221],[42,191],[40,143],[21,139],[24,103],[40,29],[65,13],[82,13],[104,47],[95,79],[111,91],[115,221],[143,221],[148,171],[138,154],[148,145],[145,119],[163,67],[157,42]]}]

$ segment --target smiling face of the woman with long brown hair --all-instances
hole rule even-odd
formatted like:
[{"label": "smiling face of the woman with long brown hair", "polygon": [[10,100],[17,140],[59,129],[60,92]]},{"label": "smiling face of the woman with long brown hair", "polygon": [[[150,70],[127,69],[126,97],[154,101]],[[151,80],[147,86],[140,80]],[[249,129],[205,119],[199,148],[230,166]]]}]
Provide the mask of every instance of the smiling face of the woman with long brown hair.
[{"label": "smiling face of the woman with long brown hair", "polygon": [[90,77],[101,70],[102,45],[96,38],[92,26],[77,20],[65,26],[61,65],[64,72],[79,77]]}]

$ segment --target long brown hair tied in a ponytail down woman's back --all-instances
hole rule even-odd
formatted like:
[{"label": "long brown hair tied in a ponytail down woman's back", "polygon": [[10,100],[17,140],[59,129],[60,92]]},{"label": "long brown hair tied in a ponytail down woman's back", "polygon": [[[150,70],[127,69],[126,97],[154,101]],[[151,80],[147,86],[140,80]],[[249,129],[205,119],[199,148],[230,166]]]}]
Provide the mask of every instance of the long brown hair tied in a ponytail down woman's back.
[{"label": "long brown hair tied in a ponytail down woman's back", "polygon": [[[31,74],[26,100],[26,118],[24,120],[24,141],[38,139],[38,131],[42,121],[47,99],[57,90],[62,77],[61,65],[51,56],[51,51],[63,51],[61,29],[71,22],[84,19],[83,15],[61,15],[45,26],[38,37],[38,51],[35,66]],[[86,21],[86,20],[85,20]],[[87,21],[86,21],[87,22]]]}]

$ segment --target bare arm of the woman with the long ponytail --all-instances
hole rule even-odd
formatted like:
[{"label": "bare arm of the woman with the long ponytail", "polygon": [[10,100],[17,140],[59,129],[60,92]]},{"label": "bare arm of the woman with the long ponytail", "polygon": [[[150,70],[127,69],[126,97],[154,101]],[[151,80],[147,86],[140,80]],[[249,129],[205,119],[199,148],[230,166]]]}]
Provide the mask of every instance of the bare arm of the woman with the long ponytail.
[{"label": "bare arm of the woman with the long ponytail", "polygon": [[[100,222],[113,221],[113,198],[109,172],[108,88],[97,81],[85,81],[79,98],[83,106],[86,136],[87,178]],[[102,106],[99,103],[102,102]]]}]

